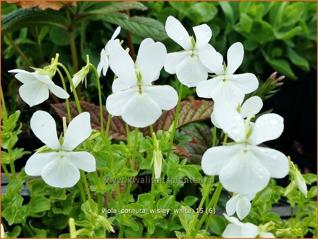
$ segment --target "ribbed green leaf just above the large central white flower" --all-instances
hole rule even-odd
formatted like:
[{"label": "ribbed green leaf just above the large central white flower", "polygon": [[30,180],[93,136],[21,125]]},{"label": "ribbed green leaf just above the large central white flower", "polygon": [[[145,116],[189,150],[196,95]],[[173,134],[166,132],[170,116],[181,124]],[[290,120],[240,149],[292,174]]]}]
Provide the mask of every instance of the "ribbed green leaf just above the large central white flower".
[{"label": "ribbed green leaf just above the large central white flower", "polygon": [[152,38],[156,41],[167,39],[164,26],[149,17],[133,16],[129,18],[123,13],[112,13],[100,16],[100,19],[117,24],[140,38]]}]

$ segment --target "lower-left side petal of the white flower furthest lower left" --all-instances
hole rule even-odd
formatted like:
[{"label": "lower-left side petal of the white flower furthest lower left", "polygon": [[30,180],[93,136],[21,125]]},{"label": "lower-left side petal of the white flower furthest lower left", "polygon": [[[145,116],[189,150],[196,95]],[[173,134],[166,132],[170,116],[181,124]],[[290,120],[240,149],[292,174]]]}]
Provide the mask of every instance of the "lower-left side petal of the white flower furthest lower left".
[{"label": "lower-left side petal of the white flower furthest lower left", "polygon": [[33,154],[25,165],[25,172],[30,176],[40,176],[43,168],[47,166],[47,164],[58,159],[58,152]]}]

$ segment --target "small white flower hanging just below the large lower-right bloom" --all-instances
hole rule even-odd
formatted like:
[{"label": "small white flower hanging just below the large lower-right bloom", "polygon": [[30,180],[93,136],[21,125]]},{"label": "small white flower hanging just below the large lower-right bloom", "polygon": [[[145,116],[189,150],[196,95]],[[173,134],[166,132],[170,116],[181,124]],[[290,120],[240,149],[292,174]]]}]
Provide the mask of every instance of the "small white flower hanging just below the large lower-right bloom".
[{"label": "small white flower hanging just below the large lower-right bloom", "polygon": [[253,194],[235,194],[226,205],[227,214],[232,216],[235,212],[238,218],[241,220],[245,218],[251,211],[251,200],[255,197]]}]

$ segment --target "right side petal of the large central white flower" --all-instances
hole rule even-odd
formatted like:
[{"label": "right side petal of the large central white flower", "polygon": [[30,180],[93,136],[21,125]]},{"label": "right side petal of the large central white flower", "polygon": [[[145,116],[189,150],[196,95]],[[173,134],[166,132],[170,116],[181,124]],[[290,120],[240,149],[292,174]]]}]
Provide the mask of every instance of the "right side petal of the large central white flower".
[{"label": "right side petal of the large central white flower", "polygon": [[177,105],[178,93],[170,85],[143,86],[142,89],[164,111],[169,111]]}]

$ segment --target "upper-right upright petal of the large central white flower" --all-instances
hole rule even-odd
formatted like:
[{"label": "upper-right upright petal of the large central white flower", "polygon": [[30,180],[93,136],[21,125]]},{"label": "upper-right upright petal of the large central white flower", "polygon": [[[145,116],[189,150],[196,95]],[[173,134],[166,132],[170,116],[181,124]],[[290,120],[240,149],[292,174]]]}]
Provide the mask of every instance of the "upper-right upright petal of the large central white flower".
[{"label": "upper-right upright petal of the large central white flower", "polygon": [[[144,41],[146,40],[147,39]],[[143,45],[140,46],[140,50],[138,52],[136,66],[141,70],[141,84],[149,85],[156,80],[158,73],[165,63],[167,52],[165,46],[161,42],[145,46],[144,49],[142,49],[142,47]]]}]

